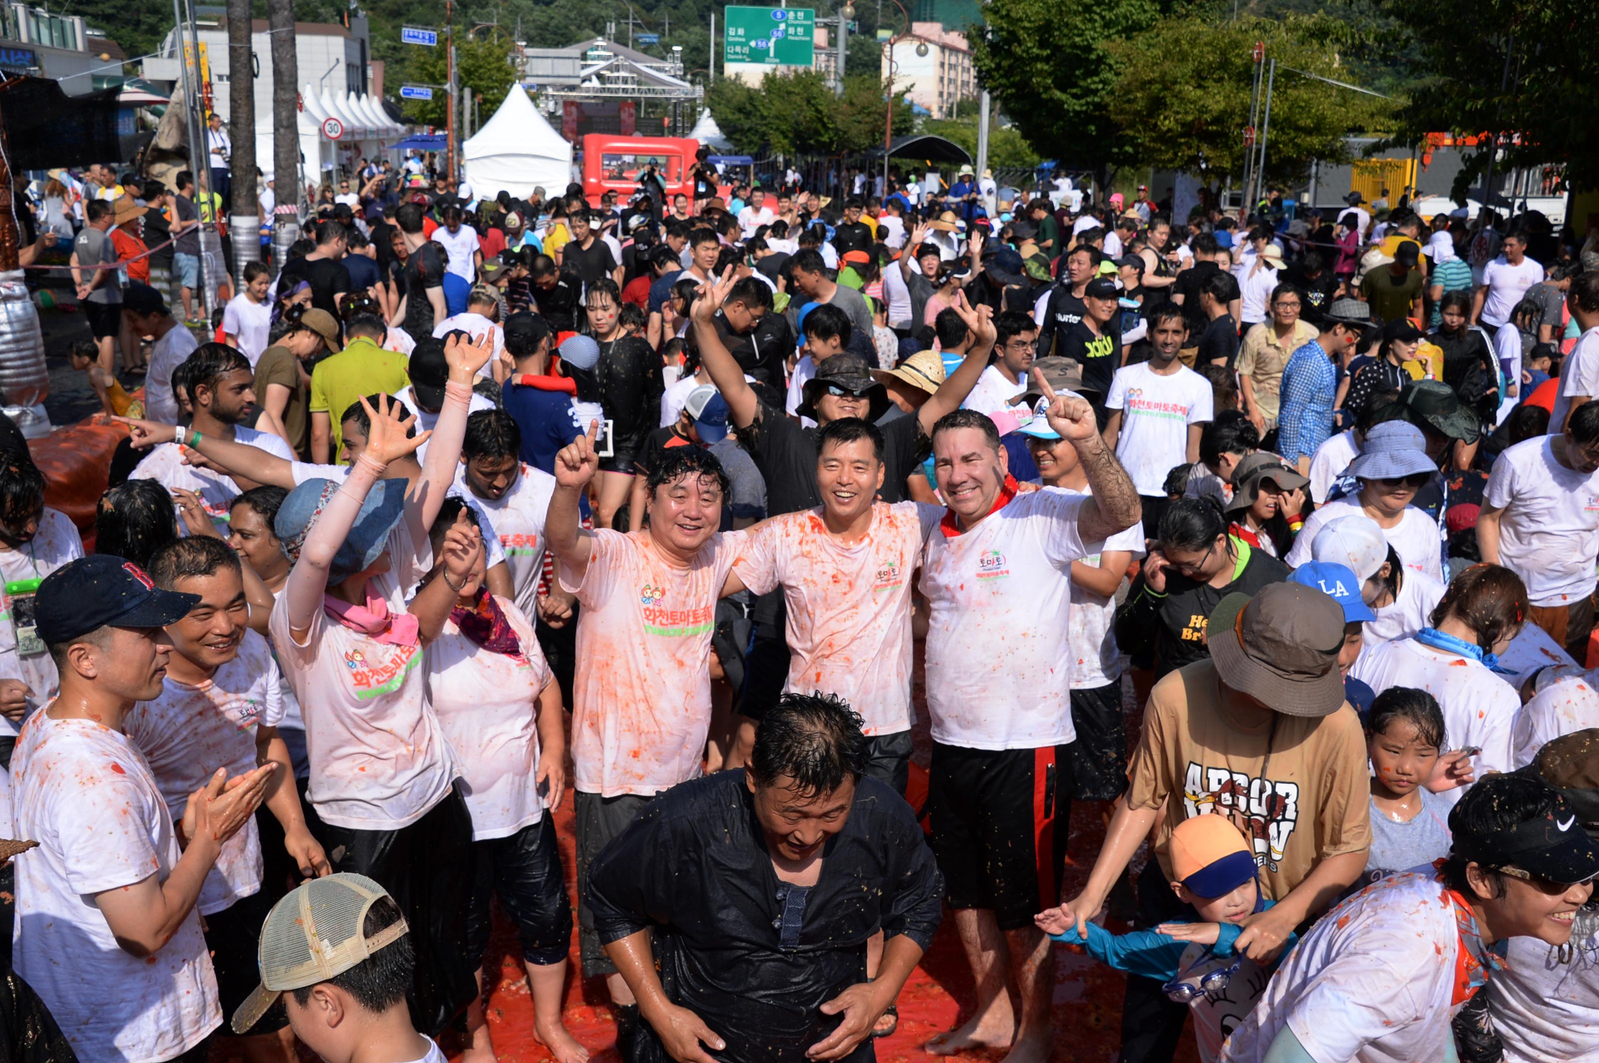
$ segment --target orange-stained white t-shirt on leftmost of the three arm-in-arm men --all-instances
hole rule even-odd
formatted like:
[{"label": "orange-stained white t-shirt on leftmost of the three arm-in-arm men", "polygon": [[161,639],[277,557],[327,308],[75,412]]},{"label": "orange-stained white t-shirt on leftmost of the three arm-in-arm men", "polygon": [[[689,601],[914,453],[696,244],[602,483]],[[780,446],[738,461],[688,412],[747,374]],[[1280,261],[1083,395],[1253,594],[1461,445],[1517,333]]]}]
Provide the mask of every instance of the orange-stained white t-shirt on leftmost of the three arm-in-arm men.
[{"label": "orange-stained white t-shirt on leftmost of the three arm-in-arm men", "polygon": [[742,535],[712,535],[686,567],[649,532],[593,532],[577,595],[572,684],[576,788],[652,796],[700,774],[710,731],[710,636],[716,596]]}]

